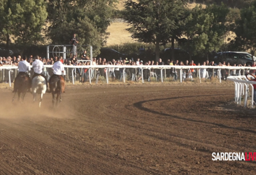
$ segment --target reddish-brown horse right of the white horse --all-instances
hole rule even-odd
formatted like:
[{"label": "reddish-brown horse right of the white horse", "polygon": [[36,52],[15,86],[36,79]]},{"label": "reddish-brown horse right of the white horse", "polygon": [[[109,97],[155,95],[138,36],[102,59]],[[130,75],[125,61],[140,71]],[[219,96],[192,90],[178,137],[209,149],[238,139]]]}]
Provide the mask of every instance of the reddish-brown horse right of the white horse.
[{"label": "reddish-brown horse right of the white horse", "polygon": [[[61,93],[65,92],[65,80],[61,75],[53,75],[49,79],[50,91],[53,95],[53,107],[61,102]],[[55,94],[57,94],[55,98]]]}]

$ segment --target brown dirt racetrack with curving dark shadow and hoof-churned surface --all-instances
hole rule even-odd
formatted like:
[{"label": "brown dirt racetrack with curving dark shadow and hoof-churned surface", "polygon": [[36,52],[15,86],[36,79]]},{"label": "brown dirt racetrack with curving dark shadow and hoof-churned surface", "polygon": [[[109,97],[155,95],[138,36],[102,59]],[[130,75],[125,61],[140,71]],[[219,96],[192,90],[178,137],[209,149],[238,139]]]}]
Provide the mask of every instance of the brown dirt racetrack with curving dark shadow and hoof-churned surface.
[{"label": "brown dirt racetrack with curving dark shadow and hoof-churned surface", "polygon": [[[255,174],[256,114],[234,85],[75,85],[57,110],[0,90],[0,174]],[[228,105],[226,105],[228,104]]]}]

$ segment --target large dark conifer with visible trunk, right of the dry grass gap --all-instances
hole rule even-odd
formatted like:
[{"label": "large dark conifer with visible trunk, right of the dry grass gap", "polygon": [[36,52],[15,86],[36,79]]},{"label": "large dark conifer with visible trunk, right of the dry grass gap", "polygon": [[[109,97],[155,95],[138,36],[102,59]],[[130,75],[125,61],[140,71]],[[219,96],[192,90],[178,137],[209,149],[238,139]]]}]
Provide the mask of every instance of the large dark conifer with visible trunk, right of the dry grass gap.
[{"label": "large dark conifer with visible trunk, right of the dry grass gap", "polygon": [[160,44],[172,37],[177,22],[183,16],[187,1],[183,0],[139,0],[125,2],[124,16],[131,28],[132,37],[139,42],[156,45],[156,60],[160,57]]}]

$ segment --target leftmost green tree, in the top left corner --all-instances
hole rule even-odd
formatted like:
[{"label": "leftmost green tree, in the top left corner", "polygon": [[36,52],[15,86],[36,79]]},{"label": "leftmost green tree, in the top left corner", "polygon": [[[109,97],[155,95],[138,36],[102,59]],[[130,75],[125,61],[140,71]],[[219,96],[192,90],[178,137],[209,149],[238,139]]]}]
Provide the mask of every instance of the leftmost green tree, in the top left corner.
[{"label": "leftmost green tree, in the top left corner", "polygon": [[42,26],[47,17],[44,0],[5,0],[3,1],[3,28],[1,33],[22,50],[42,40]]}]

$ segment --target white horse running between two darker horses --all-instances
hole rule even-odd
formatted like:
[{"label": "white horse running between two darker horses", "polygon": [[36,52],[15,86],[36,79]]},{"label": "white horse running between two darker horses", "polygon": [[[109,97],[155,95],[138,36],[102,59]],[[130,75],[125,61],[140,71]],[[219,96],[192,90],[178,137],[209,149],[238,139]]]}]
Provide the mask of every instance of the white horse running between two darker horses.
[{"label": "white horse running between two darker horses", "polygon": [[46,81],[44,77],[38,75],[32,79],[32,93],[34,97],[34,102],[36,101],[36,94],[41,94],[39,101],[39,108],[41,107],[42,96],[46,92]]}]

